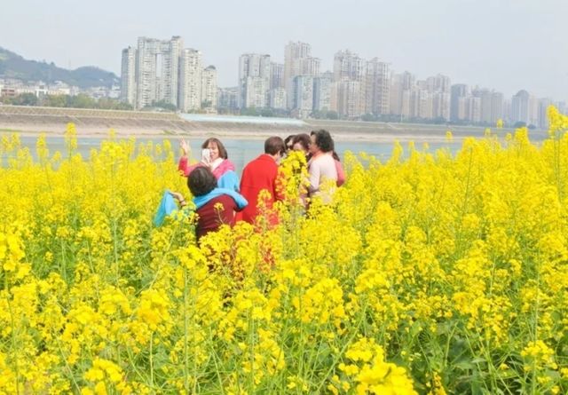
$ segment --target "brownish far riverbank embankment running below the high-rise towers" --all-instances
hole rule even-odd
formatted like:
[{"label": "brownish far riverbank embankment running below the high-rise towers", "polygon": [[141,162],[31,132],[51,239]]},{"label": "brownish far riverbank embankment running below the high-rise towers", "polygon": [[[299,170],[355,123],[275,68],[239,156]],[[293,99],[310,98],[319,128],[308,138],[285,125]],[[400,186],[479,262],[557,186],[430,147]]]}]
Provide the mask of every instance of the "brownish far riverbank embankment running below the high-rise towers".
[{"label": "brownish far riverbank embankment running below the high-rise towers", "polygon": [[[294,122],[292,122],[294,121]],[[360,142],[444,142],[446,131],[454,139],[484,135],[485,128],[461,125],[433,125],[390,122],[349,122],[329,120],[289,120],[202,115],[192,119],[173,113],[148,113],[49,107],[0,107],[0,133],[18,131],[24,136],[46,133],[59,137],[67,123],[75,123],[83,138],[104,138],[109,130],[119,137],[136,138],[234,138],[259,140],[270,136],[282,138],[311,130],[326,129],[336,141]],[[496,130],[493,130],[493,132]],[[512,130],[497,130],[504,136]],[[532,132],[538,134],[539,132]]]}]

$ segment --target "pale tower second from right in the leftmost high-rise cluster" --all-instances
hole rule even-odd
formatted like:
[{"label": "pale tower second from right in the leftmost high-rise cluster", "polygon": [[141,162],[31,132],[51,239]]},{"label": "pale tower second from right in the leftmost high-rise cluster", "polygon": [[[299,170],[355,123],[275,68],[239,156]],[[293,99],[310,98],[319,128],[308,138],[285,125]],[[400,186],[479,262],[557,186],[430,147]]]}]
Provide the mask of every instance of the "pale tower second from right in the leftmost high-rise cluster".
[{"label": "pale tower second from right in the leftmost high-rise cluster", "polygon": [[179,108],[183,112],[201,108],[201,51],[186,48],[181,52],[179,68]]}]

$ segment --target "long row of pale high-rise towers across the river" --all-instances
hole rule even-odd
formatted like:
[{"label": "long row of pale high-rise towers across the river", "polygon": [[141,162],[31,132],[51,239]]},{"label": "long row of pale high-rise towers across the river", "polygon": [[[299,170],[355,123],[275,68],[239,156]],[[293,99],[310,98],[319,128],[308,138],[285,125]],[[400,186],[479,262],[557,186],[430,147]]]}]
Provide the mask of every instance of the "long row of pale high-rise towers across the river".
[{"label": "long row of pale high-rise towers across the river", "polygon": [[[137,48],[123,49],[122,101],[137,109],[165,103],[182,112],[257,114],[261,109],[266,116],[276,111],[302,119],[405,119],[486,126],[505,121],[540,128],[548,125],[550,104],[566,111],[564,101],[538,98],[525,90],[505,99],[494,89],[452,84],[440,73],[421,80],[408,71],[397,73],[376,57],[363,59],[349,50],[336,51],[333,72],[322,73],[312,45],[292,41],[284,46],[283,64],[273,62],[270,54],[241,54],[237,86],[217,90],[217,68],[203,69],[202,52],[183,46],[181,36],[138,37]],[[209,77],[203,78],[206,74]],[[205,91],[207,99],[202,98]]]}]

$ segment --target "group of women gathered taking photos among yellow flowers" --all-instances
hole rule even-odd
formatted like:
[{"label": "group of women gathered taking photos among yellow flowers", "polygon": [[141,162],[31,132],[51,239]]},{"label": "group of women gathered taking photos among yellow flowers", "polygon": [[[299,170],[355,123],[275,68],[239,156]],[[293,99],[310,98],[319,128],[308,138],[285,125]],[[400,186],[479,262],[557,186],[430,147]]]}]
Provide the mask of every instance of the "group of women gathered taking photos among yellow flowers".
[{"label": "group of women gathered taking photos among yellow flowers", "polygon": [[[248,162],[240,181],[219,139],[205,140],[201,145],[201,161],[193,165],[189,164],[190,146],[182,139],[180,147],[183,154],[178,170],[187,177],[187,186],[193,195],[198,242],[221,225],[233,226],[238,221],[255,224],[260,215],[265,217],[266,224],[277,224],[278,217],[272,205],[283,199],[279,165],[290,151],[300,151],[306,156],[309,197],[320,196],[322,201],[329,202],[333,188],[322,186],[326,183],[342,186],[345,182],[342,164],[335,154],[334,140],[327,130],[314,130],[311,135],[303,133],[286,139],[277,136],[267,138],[264,154]],[[170,194],[182,207],[185,206],[183,194]]]}]

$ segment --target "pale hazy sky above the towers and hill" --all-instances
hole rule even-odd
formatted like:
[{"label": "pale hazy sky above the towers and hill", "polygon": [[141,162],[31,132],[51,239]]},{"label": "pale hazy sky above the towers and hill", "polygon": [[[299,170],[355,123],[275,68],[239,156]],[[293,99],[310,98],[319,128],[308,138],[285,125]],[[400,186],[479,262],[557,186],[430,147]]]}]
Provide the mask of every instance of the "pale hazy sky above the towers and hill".
[{"label": "pale hazy sky above the towers and hill", "polygon": [[220,86],[233,86],[241,53],[283,61],[288,41],[304,41],[322,71],[348,48],[420,79],[442,73],[506,96],[564,100],[567,15],[567,0],[2,0],[0,46],[120,74],[121,50],[138,36],[182,36],[217,67]]}]

